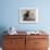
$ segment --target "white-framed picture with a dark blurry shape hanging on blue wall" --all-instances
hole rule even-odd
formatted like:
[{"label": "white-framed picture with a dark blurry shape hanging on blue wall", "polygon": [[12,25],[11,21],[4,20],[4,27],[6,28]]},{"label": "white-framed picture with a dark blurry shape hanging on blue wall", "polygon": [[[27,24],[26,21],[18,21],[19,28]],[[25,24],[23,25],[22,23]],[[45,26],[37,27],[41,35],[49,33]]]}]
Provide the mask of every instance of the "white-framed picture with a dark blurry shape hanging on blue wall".
[{"label": "white-framed picture with a dark blurry shape hanging on blue wall", "polygon": [[20,23],[38,23],[38,9],[21,8]]}]

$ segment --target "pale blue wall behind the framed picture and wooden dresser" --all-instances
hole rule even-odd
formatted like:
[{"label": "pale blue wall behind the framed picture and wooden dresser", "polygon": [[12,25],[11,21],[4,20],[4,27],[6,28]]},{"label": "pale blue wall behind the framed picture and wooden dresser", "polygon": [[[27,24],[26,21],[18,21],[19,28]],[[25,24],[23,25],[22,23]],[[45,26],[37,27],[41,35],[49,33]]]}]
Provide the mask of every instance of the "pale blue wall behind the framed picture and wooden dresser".
[{"label": "pale blue wall behind the framed picture and wooden dresser", "polygon": [[[47,29],[50,30],[50,0],[0,0],[0,27],[14,26],[17,30]],[[37,24],[20,24],[20,8],[37,8],[39,22]]]}]

